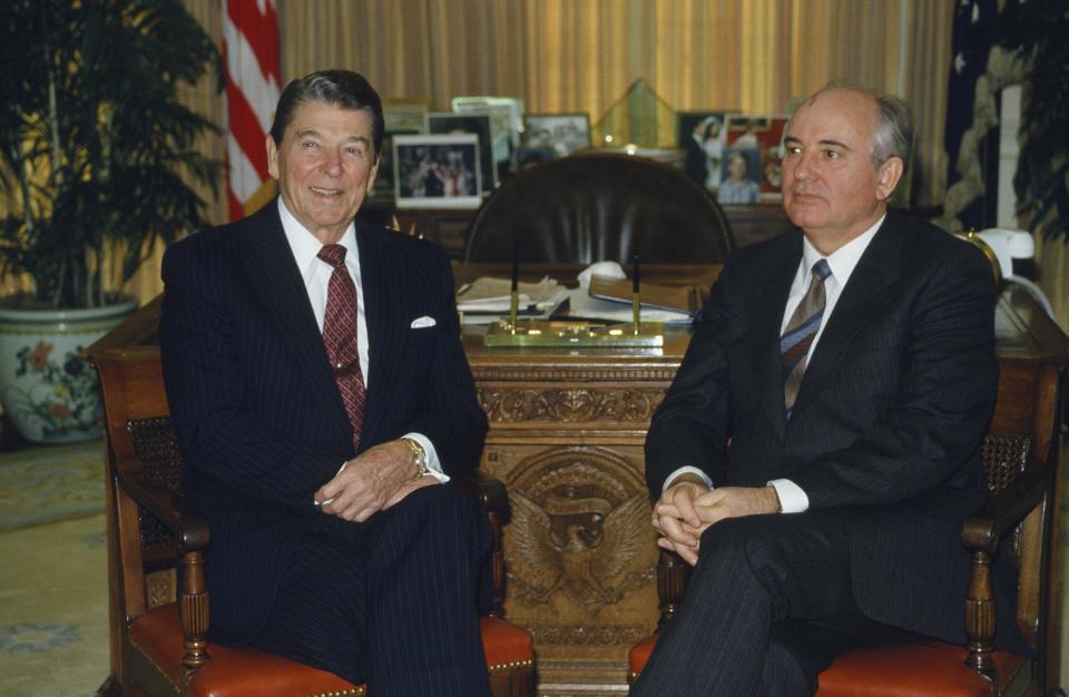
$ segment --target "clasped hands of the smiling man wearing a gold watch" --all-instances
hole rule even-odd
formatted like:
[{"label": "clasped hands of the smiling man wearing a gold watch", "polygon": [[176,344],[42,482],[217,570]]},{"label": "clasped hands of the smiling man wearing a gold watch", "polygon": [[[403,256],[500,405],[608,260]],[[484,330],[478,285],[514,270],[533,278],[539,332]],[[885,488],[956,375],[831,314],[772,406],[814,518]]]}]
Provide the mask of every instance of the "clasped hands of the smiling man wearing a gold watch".
[{"label": "clasped hands of the smiling man wearing a gold watch", "polygon": [[400,441],[371,448],[349,462],[315,492],[320,510],[344,520],[363,522],[406,495],[439,483],[430,474],[415,478],[412,450]]}]

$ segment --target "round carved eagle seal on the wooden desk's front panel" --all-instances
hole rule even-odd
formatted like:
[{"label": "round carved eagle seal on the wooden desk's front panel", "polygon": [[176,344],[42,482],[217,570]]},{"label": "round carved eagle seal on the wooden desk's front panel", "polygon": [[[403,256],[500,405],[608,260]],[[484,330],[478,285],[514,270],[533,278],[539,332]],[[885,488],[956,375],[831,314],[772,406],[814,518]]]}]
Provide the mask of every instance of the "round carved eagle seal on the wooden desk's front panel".
[{"label": "round carved eagle seal on the wooden desk's front panel", "polygon": [[626,462],[594,448],[555,450],[510,485],[509,592],[559,613],[555,598],[597,615],[655,579],[632,568],[650,543],[646,488]]}]

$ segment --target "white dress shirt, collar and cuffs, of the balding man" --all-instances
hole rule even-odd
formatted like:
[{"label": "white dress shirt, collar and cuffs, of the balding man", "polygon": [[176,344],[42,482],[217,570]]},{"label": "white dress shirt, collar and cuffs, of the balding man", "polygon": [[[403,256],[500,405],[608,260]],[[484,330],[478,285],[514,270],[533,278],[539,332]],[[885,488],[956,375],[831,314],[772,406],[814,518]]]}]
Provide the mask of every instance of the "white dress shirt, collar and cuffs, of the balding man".
[{"label": "white dress shirt, collar and cuffs, of the balding man", "polygon": [[[831,275],[824,279],[824,314],[821,317],[821,326],[813,337],[813,343],[810,344],[810,351],[805,354],[806,362],[812,359],[813,352],[816,351],[816,344],[821,341],[824,327],[827,326],[827,320],[832,316],[835,304],[838,302],[838,296],[842,295],[843,288],[846,287],[846,282],[850,281],[850,275],[854,273],[854,267],[857,266],[857,262],[861,261],[861,255],[869,248],[869,243],[872,242],[876,230],[883,225],[883,218],[885,217],[886,215],[881,216],[872,227],[844,244],[830,256],[823,256],[817,252],[816,247],[810,243],[808,238],[803,236],[802,261],[798,263],[798,269],[794,274],[791,293],[787,295],[787,304],[783,308],[783,322],[779,325],[781,335],[783,335],[783,331],[787,328],[791,315],[794,314],[794,311],[802,303],[802,298],[810,287],[810,281],[813,277],[813,266],[823,258],[827,259],[827,265],[832,269]],[[713,480],[698,468],[690,465],[681,467],[668,475],[668,479],[665,480],[664,488],[667,489],[677,477],[684,473],[697,474],[706,485],[710,489],[713,488]],[[810,498],[805,491],[792,480],[774,479],[768,482],[768,485],[776,490],[776,495],[779,497],[779,508],[784,513],[802,513],[808,510]]]}]

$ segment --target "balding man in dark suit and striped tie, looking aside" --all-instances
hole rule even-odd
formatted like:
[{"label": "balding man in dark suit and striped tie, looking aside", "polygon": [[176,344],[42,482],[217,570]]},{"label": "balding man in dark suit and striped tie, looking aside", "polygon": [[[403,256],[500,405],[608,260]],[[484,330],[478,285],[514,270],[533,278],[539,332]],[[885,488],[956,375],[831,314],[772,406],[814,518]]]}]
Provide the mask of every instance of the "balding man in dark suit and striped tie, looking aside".
[{"label": "balding man in dark suit and striped tie, looking aside", "polygon": [[978,249],[887,212],[911,134],[834,86],[786,127],[796,229],[728,258],[647,436],[658,544],[695,568],[632,695],[812,695],[847,647],[964,640],[994,289]]}]

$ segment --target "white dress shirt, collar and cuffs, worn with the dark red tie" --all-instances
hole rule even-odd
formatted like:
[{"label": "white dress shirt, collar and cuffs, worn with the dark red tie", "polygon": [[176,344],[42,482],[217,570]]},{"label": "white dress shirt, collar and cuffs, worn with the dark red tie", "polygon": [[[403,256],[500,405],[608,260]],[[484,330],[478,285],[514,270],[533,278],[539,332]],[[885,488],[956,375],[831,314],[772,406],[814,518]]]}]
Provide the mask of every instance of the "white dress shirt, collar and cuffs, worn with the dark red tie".
[{"label": "white dress shirt, collar and cuffs, worn with the dark red tie", "polygon": [[[323,317],[326,316],[326,293],[334,267],[321,259],[317,255],[323,248],[315,235],[290,213],[282,197],[278,197],[278,215],[282,218],[282,229],[286,233],[286,240],[293,252],[304,287],[308,292],[308,302],[312,303],[312,313],[315,323],[323,333]],[[367,384],[367,365],[370,363],[370,344],[367,343],[367,318],[364,314],[364,286],[360,279],[360,251],[356,248],[356,226],[349,224],[337,244],[345,247],[345,268],[356,285],[356,353],[360,357],[360,372],[364,376],[364,386]],[[429,438],[422,433],[405,433],[403,438],[411,438],[423,446],[426,452],[426,469],[439,481],[448,482],[449,475],[442,472],[442,463],[438,459],[438,451]],[[345,464],[342,464],[342,470]],[[339,470],[341,472],[342,470]]]}]

